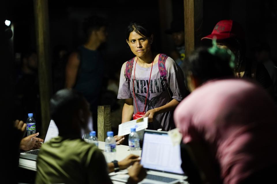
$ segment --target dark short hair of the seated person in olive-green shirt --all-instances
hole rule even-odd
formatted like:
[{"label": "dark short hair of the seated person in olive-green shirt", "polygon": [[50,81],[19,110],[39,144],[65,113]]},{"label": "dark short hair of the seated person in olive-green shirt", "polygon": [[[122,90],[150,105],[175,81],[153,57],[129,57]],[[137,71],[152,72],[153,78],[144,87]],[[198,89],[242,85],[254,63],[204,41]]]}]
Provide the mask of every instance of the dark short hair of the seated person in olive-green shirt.
[{"label": "dark short hair of the seated person in olive-green shirt", "polygon": [[50,99],[50,116],[58,128],[73,118],[82,108],[83,101],[83,95],[74,89],[61,89],[55,93]]}]

